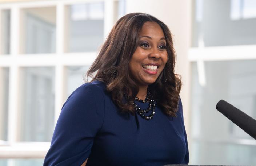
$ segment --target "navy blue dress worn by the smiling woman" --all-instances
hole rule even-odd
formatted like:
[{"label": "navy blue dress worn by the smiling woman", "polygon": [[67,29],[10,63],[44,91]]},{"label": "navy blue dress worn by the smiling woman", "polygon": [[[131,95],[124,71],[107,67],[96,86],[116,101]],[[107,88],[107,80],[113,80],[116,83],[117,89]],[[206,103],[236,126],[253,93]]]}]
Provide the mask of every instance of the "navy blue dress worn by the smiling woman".
[{"label": "navy blue dress worn by the smiling woman", "polygon": [[166,116],[156,103],[153,119],[145,120],[121,114],[103,82],[83,84],[62,107],[44,165],[78,166],[87,158],[87,166],[188,164],[181,101],[177,117]]}]

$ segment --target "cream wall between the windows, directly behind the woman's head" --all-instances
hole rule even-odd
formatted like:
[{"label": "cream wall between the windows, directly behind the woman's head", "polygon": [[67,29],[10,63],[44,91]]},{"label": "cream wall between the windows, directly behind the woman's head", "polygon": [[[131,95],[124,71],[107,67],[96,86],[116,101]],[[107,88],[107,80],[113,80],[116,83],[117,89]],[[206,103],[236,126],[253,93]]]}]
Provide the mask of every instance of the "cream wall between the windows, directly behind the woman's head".
[{"label": "cream wall between the windows, directly behind the woman's head", "polygon": [[191,0],[127,0],[127,13],[144,12],[163,21],[171,30],[177,53],[175,72],[182,76],[184,120],[189,135],[189,61],[191,37]]}]

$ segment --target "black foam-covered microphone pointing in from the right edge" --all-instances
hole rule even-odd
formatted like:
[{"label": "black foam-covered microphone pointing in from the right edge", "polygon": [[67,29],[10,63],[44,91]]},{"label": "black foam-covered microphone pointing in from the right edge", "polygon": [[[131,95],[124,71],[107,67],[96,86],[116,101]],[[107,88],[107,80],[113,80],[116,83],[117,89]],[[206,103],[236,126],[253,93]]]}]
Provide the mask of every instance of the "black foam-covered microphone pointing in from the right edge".
[{"label": "black foam-covered microphone pointing in from the right edge", "polygon": [[256,140],[256,120],[227,101],[220,100],[216,109]]}]

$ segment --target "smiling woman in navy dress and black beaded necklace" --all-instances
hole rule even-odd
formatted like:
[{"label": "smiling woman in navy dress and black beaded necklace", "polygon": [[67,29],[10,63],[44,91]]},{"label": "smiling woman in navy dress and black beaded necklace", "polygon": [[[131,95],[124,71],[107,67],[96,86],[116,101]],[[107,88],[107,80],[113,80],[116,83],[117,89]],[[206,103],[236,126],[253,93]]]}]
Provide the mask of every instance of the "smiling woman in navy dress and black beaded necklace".
[{"label": "smiling woman in navy dress and black beaded necklace", "polygon": [[188,164],[168,27],[145,13],[120,18],[63,105],[44,165]]}]

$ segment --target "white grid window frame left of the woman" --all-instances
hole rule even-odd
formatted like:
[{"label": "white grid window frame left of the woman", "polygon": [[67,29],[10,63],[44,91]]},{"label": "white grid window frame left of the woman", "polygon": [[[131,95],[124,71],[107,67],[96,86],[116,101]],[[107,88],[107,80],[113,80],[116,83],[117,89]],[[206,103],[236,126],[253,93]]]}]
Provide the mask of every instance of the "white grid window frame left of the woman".
[{"label": "white grid window frame left of the woman", "polygon": [[[91,65],[97,52],[65,52],[65,19],[68,5],[104,2],[104,36],[111,30],[115,18],[115,3],[118,0],[51,0],[12,2],[0,5],[0,11],[10,9],[11,37],[10,55],[0,55],[0,68],[9,68],[9,110],[8,110],[8,142],[0,140],[0,158],[44,158],[50,142],[18,142],[17,111],[19,98],[19,69],[20,67],[55,67],[55,117],[56,124],[61,107],[65,100],[64,81],[65,67]],[[56,7],[56,53],[50,54],[20,54],[20,11],[23,8]],[[1,14],[1,12],[0,12]],[[1,16],[1,15],[0,15]],[[1,19],[1,17],[0,17]],[[0,20],[1,21],[1,20]],[[1,44],[1,43],[0,43]]]}]

